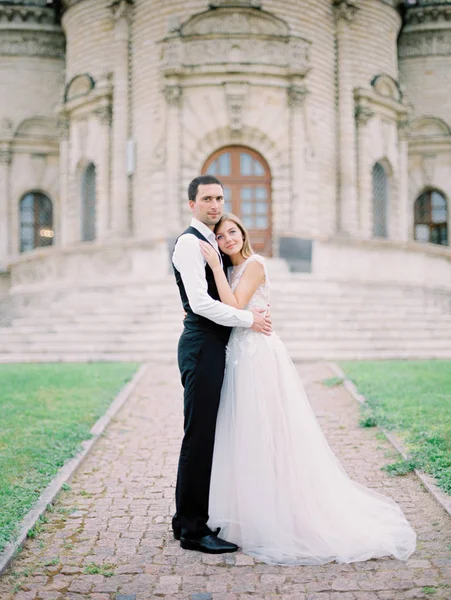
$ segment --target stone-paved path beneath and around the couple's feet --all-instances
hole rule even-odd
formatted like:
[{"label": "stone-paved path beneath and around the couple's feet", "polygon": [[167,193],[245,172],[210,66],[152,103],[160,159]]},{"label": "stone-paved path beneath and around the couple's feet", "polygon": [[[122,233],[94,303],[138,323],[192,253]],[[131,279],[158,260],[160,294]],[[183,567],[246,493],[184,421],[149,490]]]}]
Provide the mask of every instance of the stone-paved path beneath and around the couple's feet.
[{"label": "stone-paved path beneath and around the couple's feet", "polygon": [[[418,533],[407,563],[274,567],[242,554],[182,551],[170,533],[182,403],[173,366],[152,367],[0,581],[0,600],[451,599],[451,519],[414,475],[380,467],[392,447],[358,427],[355,401],[326,388],[325,364],[299,372],[349,475],[392,496]],[[333,490],[331,490],[333,493]]]}]

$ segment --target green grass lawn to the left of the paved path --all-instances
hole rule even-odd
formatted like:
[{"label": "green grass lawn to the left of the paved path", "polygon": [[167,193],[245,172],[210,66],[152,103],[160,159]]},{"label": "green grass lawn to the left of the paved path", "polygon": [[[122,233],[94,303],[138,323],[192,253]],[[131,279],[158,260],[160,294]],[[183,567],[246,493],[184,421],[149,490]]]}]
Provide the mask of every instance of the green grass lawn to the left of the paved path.
[{"label": "green grass lawn to the left of the paved path", "polygon": [[136,364],[0,364],[0,551]]}]

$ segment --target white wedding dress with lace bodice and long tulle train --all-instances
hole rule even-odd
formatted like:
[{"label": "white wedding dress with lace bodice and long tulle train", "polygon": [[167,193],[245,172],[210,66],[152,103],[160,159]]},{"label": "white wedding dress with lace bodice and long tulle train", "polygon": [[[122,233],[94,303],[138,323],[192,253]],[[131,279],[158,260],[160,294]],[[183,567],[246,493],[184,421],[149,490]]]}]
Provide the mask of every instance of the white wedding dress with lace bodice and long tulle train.
[{"label": "white wedding dress with lace bodice and long tulle train", "polygon": [[[233,267],[232,290],[256,254]],[[266,266],[265,266],[266,273]],[[269,282],[247,308],[266,307]],[[235,328],[218,412],[208,525],[281,565],[406,560],[416,534],[391,499],[352,481],[331,451],[281,340]]]}]

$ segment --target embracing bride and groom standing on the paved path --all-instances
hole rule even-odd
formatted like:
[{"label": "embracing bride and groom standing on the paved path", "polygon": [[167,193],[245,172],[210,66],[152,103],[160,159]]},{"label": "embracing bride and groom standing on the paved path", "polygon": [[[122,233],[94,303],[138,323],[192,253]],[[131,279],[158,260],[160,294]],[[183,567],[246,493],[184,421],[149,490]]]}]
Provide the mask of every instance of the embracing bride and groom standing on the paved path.
[{"label": "embracing bride and groom standing on the paved path", "polygon": [[174,537],[269,564],[406,560],[416,535],[398,505],[352,481],[332,453],[269,316],[265,259],[223,214],[213,176],[188,188],[193,219],[173,266],[183,307],[184,387]]}]

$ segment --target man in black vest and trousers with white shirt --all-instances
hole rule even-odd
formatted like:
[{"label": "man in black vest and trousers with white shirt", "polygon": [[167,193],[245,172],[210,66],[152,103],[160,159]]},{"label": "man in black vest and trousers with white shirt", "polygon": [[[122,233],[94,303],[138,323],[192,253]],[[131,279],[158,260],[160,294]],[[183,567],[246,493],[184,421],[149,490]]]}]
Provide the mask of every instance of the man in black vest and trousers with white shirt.
[{"label": "man in black vest and trousers with white shirt", "polygon": [[182,548],[222,554],[238,549],[235,544],[219,538],[219,530],[212,532],[207,527],[225,348],[232,327],[252,327],[254,331],[270,334],[271,321],[264,316],[264,310],[238,310],[220,302],[213,272],[200,251],[199,240],[203,240],[213,246],[221,260],[223,258],[213,231],[224,209],[224,190],[219,179],[211,175],[196,177],[189,184],[188,198],[193,218],[177,239],[172,256],[186,312],[178,346],[184,387],[184,437],[172,528]]}]

